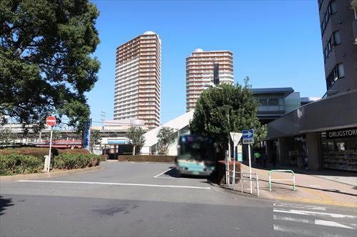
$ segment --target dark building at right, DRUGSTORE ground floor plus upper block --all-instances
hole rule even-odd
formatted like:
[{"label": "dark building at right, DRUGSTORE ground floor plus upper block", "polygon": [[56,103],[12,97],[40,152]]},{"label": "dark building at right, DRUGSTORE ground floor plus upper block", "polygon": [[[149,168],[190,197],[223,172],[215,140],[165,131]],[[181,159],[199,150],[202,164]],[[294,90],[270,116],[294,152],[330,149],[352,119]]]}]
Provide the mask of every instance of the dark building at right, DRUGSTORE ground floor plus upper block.
[{"label": "dark building at right, DRUGSTORE ground floor plus upper block", "polygon": [[318,0],[326,94],[268,123],[278,164],[357,172],[357,0]]}]

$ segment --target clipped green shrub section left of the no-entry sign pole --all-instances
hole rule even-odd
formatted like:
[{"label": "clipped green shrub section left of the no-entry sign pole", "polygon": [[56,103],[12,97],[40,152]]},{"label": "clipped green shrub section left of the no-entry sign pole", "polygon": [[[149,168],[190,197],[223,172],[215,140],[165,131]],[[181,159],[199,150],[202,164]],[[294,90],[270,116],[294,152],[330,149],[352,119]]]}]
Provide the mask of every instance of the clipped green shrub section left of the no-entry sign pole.
[{"label": "clipped green shrub section left of the no-entry sign pole", "polygon": [[0,154],[0,175],[38,173],[44,159],[26,154]]}]

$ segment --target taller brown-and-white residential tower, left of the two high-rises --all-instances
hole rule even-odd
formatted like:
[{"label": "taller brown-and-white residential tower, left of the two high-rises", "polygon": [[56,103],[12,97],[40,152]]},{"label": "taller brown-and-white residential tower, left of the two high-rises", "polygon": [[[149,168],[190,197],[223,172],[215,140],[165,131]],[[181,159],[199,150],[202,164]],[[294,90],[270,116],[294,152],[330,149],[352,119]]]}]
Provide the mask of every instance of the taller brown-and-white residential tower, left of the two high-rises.
[{"label": "taller brown-and-white residential tower, left of the two high-rises", "polygon": [[160,125],[161,39],[146,31],[116,48],[114,120]]}]

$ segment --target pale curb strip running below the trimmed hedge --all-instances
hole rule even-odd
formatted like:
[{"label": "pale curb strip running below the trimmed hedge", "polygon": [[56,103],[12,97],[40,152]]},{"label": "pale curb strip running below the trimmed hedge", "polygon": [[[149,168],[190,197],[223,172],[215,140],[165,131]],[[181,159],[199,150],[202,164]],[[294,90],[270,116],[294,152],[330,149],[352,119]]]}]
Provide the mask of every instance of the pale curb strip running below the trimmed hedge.
[{"label": "pale curb strip running below the trimmed hedge", "polygon": [[84,169],[71,169],[65,171],[56,171],[48,173],[41,173],[41,174],[16,174],[11,176],[0,176],[0,183],[4,181],[17,181],[21,179],[41,179],[41,178],[54,178],[54,177],[64,177],[71,174],[82,174],[86,172],[93,172],[96,170],[101,170],[103,167],[101,165],[96,167],[89,167]]}]

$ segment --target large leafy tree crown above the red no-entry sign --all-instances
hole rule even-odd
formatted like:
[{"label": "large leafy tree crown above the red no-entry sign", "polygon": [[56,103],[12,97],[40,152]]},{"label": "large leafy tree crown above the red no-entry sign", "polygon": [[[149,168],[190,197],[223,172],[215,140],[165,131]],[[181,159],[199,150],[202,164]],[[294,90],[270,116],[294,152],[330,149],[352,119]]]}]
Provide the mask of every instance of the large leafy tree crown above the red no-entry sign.
[{"label": "large leafy tree crown above the red no-entry sign", "polygon": [[[0,117],[25,132],[44,128],[46,116],[69,118],[83,130],[89,117],[85,93],[100,63],[99,11],[89,0],[0,0]],[[2,122],[6,122],[3,119]]]}]

